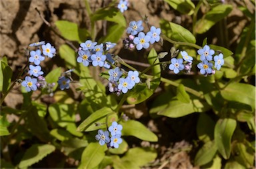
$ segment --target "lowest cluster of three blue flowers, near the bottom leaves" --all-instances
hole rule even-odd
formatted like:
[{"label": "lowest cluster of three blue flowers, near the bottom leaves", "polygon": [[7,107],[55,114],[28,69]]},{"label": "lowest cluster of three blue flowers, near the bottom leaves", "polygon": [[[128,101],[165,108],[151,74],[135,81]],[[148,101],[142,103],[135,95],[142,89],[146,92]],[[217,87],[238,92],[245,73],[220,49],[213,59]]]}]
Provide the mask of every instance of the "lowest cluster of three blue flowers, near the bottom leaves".
[{"label": "lowest cluster of three blue flowers, near the bottom leaves", "polygon": [[[107,131],[98,130],[98,134],[95,136],[95,139],[99,141],[99,144],[103,146],[107,144],[108,148],[118,148],[119,144],[123,142],[121,138],[121,130],[123,126],[117,122],[112,122],[112,125],[109,126]],[[111,137],[109,138],[109,132]]]}]

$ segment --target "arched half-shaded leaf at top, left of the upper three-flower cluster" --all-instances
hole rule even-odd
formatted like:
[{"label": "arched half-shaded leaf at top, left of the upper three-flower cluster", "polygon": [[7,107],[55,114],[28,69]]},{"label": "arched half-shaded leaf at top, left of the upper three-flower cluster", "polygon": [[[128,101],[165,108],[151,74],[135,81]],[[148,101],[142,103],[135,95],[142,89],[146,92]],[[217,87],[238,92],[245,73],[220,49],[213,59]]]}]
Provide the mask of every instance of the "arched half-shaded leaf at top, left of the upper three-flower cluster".
[{"label": "arched half-shaded leaf at top, left of the upper three-flower cluster", "polygon": [[123,16],[123,13],[121,13],[117,8],[105,8],[105,9],[99,9],[93,15],[91,15],[91,21],[111,21],[114,23],[118,23],[122,27],[126,27],[126,20]]}]

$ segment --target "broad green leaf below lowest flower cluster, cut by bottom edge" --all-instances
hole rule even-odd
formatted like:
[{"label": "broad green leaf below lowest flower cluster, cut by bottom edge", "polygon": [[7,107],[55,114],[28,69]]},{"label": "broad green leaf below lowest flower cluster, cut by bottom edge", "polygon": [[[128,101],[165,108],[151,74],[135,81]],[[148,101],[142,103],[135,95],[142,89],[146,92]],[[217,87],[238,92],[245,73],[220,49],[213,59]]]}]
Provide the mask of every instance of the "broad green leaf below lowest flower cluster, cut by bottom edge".
[{"label": "broad green leaf below lowest flower cluster, cut by bottom edge", "polygon": [[99,165],[101,160],[103,160],[105,156],[105,151],[107,150],[107,146],[99,145],[99,142],[91,142],[83,151],[81,156],[81,164],[78,168],[94,168]]}]

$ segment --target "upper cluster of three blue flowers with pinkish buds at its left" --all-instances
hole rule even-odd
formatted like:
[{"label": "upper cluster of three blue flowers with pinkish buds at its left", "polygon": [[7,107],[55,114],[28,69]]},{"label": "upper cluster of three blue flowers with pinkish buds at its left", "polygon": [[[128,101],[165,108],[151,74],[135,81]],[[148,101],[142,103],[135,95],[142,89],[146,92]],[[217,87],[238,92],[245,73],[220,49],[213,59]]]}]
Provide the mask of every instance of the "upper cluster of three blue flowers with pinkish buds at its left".
[{"label": "upper cluster of three blue flowers with pinkish buds at its left", "polygon": [[126,32],[129,37],[123,41],[125,48],[132,49],[136,45],[136,49],[140,51],[141,49],[149,48],[149,43],[153,44],[160,41],[161,29],[151,26],[150,31],[146,34],[143,33],[143,21],[131,21]]}]

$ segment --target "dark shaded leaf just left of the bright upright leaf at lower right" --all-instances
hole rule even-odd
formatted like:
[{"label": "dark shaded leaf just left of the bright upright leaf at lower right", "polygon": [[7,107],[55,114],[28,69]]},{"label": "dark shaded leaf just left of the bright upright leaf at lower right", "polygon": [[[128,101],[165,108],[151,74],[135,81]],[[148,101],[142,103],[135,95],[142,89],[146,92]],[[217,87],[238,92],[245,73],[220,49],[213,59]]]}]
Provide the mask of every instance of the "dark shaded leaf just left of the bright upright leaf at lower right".
[{"label": "dark shaded leaf just left of the bright upright leaf at lower right", "polygon": [[213,140],[215,122],[205,113],[201,112],[197,121],[197,136],[203,142]]}]

